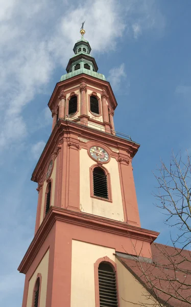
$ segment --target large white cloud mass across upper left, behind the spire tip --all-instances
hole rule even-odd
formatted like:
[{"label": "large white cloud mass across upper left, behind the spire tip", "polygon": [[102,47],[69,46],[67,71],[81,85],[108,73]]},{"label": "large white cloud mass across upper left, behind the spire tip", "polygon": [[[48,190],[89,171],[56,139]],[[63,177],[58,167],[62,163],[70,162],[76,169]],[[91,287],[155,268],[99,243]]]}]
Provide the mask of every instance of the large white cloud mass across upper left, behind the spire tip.
[{"label": "large white cloud mass across upper left, behind the spire tip", "polygon": [[[23,107],[44,90],[56,65],[65,66],[73,55],[82,20],[86,20],[85,38],[90,40],[92,54],[114,50],[125,29],[137,38],[143,30],[162,25],[154,0],[149,3],[128,0],[123,5],[116,0],[86,0],[83,4],[64,1],[58,7],[52,0],[3,2],[0,13],[2,148],[27,135],[27,123],[21,116]],[[11,129],[14,133],[10,133]]]}]

